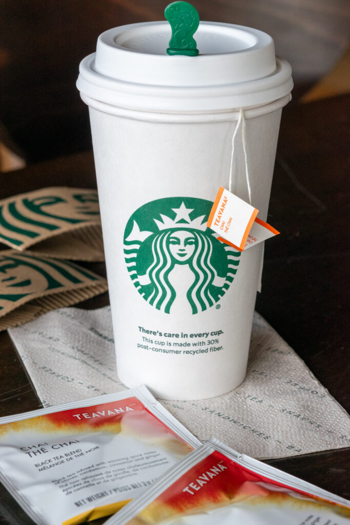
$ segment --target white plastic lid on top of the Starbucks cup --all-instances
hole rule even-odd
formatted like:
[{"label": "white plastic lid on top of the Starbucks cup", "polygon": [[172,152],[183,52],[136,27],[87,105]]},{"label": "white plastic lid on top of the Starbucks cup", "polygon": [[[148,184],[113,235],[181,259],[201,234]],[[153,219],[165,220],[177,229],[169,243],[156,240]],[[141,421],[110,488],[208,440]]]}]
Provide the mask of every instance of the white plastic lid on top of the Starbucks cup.
[{"label": "white plastic lid on top of the Starbucks cup", "polygon": [[81,94],[114,106],[156,111],[211,111],[256,106],[287,95],[288,62],[272,38],[250,27],[200,22],[199,55],[166,53],[171,27],[147,22],[102,33],[80,64]]}]

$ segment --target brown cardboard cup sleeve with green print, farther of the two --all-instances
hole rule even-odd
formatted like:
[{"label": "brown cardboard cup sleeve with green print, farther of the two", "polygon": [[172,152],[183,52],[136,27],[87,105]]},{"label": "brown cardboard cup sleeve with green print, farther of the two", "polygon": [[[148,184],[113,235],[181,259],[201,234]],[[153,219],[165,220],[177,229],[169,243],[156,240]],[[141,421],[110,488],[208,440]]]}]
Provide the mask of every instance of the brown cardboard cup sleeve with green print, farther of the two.
[{"label": "brown cardboard cup sleeve with green print, farther of the two", "polygon": [[97,191],[58,186],[3,199],[0,242],[39,256],[104,260]]}]

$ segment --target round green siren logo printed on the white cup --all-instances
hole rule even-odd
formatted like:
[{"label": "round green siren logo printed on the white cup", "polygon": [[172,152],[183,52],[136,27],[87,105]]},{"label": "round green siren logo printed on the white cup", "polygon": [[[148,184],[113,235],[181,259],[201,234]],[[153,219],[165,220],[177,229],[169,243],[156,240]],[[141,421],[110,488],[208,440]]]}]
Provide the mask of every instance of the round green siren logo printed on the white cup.
[{"label": "round green siren logo printed on the white cup", "polygon": [[207,228],[213,203],[200,198],[157,199],[126,224],[124,257],[140,295],[165,313],[198,313],[225,294],[240,252]]}]

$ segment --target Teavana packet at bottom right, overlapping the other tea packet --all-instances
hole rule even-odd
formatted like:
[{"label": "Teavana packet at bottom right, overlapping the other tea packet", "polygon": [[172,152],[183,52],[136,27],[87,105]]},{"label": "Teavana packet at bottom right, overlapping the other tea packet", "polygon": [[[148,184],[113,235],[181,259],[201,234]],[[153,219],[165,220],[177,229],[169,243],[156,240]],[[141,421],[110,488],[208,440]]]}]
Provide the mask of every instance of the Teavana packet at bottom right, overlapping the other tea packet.
[{"label": "Teavana packet at bottom right, overlapping the other tea packet", "polygon": [[348,525],[350,501],[210,439],[106,525]]}]

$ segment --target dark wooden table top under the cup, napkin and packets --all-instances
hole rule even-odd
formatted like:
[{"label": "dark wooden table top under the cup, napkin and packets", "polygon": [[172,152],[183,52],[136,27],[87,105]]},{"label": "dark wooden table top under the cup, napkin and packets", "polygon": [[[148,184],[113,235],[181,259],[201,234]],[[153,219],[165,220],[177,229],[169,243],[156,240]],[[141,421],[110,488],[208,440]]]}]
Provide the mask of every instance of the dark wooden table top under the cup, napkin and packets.
[{"label": "dark wooden table top under the cup, napkin and packets", "polygon": [[[283,110],[268,219],[281,235],[266,244],[256,305],[347,410],[349,102],[345,95]],[[0,198],[49,185],[95,187],[92,153],[2,174]],[[104,272],[101,264],[87,266]],[[104,294],[79,306],[107,303]],[[0,362],[0,414],[39,408],[6,332],[0,333]],[[350,448],[268,463],[350,498]],[[32,523],[5,491],[0,496],[1,525]]]}]

